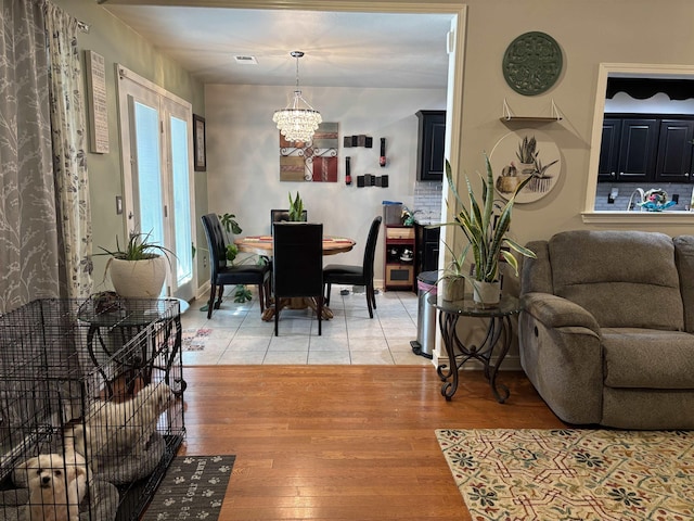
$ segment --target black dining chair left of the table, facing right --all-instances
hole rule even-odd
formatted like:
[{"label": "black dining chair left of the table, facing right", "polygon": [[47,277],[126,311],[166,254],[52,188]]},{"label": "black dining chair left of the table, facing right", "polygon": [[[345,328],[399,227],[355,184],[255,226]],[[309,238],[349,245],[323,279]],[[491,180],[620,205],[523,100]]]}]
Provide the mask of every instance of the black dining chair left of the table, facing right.
[{"label": "black dining chair left of the table, facing right", "polygon": [[[209,246],[210,289],[207,318],[211,318],[213,307],[219,309],[224,285],[257,285],[260,313],[265,312],[265,306],[268,305],[270,298],[270,266],[228,264],[227,243],[219,217],[217,214],[207,214],[202,216],[202,220],[207,236],[207,245]],[[217,302],[215,302],[215,296],[217,296]]]}]

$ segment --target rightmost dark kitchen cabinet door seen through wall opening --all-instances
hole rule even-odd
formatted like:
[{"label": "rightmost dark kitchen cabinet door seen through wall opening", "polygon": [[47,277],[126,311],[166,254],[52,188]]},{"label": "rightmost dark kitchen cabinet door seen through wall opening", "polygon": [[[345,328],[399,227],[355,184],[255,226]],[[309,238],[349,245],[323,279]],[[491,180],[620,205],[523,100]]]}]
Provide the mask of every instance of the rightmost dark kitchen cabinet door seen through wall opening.
[{"label": "rightmost dark kitchen cabinet door seen through wall opening", "polygon": [[664,119],[660,122],[655,180],[690,181],[692,139],[694,139],[694,120]]}]

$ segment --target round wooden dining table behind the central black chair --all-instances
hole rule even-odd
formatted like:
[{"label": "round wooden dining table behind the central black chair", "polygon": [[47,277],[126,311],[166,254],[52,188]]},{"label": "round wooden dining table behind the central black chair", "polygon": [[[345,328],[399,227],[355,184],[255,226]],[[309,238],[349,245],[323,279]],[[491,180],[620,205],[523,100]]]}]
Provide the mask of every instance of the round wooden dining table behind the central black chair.
[{"label": "round wooden dining table behind the central black chair", "polygon": [[[266,257],[272,256],[272,236],[240,237],[234,239],[234,244],[239,247],[239,251],[243,253],[254,253]],[[323,255],[347,253],[355,247],[355,244],[357,244],[357,242],[347,237],[323,236]],[[313,312],[318,313],[318,304],[312,297],[282,298],[281,302],[275,302],[273,306],[266,308],[262,313],[262,320],[273,320],[277,309],[284,307],[288,309],[306,309],[310,307]],[[330,320],[333,316],[333,312],[323,305],[323,320]]]}]

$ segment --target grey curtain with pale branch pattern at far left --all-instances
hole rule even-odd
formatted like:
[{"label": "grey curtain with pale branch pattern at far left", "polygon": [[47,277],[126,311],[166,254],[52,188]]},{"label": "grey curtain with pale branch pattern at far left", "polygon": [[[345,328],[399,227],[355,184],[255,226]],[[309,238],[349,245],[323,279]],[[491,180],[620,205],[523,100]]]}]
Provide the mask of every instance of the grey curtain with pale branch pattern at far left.
[{"label": "grey curtain with pale branch pattern at far left", "polygon": [[0,0],[0,313],[59,296],[41,2]]}]

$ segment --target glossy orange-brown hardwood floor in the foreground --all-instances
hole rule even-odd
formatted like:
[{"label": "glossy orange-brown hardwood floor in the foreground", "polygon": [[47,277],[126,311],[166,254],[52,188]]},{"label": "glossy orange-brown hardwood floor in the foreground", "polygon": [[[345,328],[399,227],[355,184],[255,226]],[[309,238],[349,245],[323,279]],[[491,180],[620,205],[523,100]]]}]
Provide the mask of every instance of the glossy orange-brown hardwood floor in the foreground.
[{"label": "glossy orange-brown hardwood floor in the foreground", "polygon": [[451,402],[433,367],[185,367],[181,454],[236,455],[230,520],[470,520],[434,433],[558,428],[523,373],[480,371]]}]

